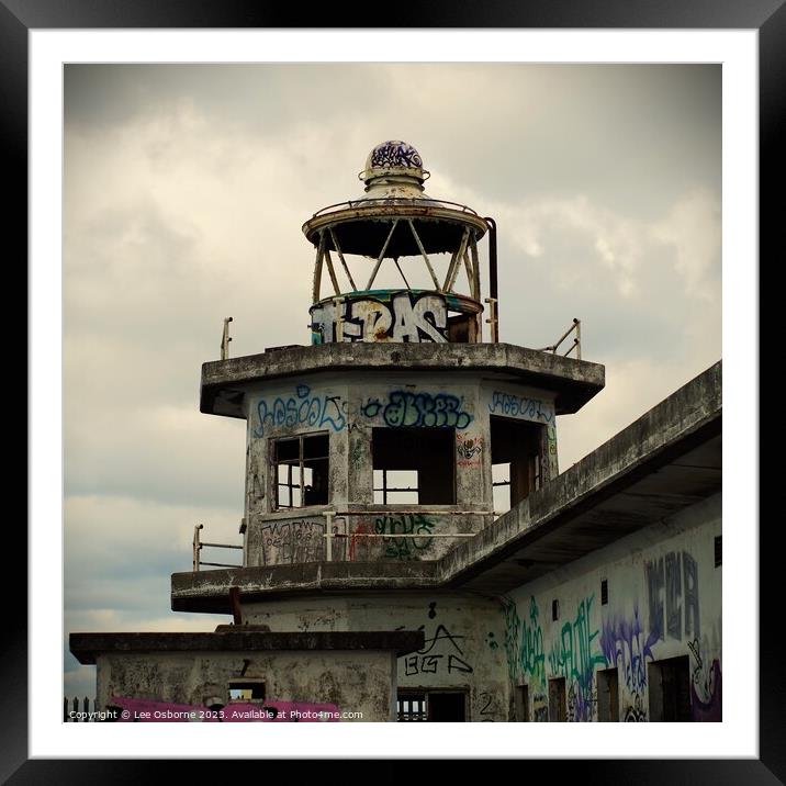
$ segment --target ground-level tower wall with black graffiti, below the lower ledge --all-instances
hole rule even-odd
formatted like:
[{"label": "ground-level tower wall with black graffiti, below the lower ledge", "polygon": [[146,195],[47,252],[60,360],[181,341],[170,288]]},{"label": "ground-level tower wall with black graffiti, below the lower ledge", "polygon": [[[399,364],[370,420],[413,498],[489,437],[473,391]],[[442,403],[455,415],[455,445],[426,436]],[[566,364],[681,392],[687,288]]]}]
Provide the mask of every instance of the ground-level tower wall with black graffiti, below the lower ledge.
[{"label": "ground-level tower wall with black graffiti, below the lower ledge", "polygon": [[508,718],[504,618],[497,599],[434,593],[292,598],[244,604],[244,621],[276,630],[423,630],[422,650],[398,658],[398,688],[461,689],[470,721]]}]

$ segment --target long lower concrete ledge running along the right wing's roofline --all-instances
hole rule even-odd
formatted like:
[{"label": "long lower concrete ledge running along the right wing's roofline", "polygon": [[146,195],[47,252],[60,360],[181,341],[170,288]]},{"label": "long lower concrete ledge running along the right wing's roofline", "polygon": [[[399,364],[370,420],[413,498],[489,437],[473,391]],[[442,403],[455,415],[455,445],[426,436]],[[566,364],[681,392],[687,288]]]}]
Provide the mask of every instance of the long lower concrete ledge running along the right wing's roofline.
[{"label": "long lower concrete ledge running along the right wing's roofline", "polygon": [[[323,562],[176,573],[172,608],[229,613],[232,586],[238,586],[249,599],[314,591],[443,587],[497,592],[508,581],[499,577],[503,563],[514,554],[526,561],[528,550],[555,534],[561,538],[561,564],[565,564],[720,490],[721,381],[719,361],[436,562]],[[678,462],[696,449],[708,452],[709,458],[699,475],[696,468],[683,468]],[[660,486],[641,496],[641,484],[653,481]],[[635,501],[637,493],[640,496]],[[609,513],[604,505],[616,501],[616,495],[628,502],[618,503]],[[581,537],[572,528],[581,530]],[[520,584],[524,580],[525,572],[518,566],[510,581]]]}]

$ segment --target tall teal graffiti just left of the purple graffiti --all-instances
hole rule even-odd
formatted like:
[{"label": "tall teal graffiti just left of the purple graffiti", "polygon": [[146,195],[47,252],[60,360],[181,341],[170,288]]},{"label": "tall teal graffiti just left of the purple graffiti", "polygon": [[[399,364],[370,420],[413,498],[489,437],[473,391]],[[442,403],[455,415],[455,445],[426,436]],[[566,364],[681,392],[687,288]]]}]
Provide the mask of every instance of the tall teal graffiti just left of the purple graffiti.
[{"label": "tall teal graffiti just left of the purple graffiti", "polygon": [[597,649],[599,631],[591,632],[591,595],[579,604],[576,618],[565,622],[560,638],[549,654],[549,666],[555,675],[564,676],[574,690],[573,716],[575,720],[592,720],[597,695],[594,688],[595,665],[606,665],[606,658]]}]

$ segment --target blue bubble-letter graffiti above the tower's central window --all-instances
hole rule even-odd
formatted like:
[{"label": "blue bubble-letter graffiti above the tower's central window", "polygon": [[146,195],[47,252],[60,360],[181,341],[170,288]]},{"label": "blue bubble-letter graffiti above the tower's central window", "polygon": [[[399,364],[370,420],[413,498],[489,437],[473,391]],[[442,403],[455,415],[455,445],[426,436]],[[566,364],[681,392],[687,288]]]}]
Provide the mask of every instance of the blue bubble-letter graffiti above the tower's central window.
[{"label": "blue bubble-letter graffiti above the tower's central window", "polygon": [[390,428],[467,428],[472,415],[464,412],[463,400],[448,393],[409,393],[392,391],[388,402],[370,398],[360,408],[364,417],[379,415]]}]

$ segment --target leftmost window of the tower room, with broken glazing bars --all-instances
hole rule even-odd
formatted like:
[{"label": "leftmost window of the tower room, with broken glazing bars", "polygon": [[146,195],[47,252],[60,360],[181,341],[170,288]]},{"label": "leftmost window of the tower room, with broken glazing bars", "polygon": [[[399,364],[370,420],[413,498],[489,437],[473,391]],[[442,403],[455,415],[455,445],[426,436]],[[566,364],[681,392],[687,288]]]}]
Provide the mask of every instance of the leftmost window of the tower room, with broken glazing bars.
[{"label": "leftmost window of the tower room, with broken glazing bars", "polygon": [[327,505],[328,435],[272,440],[276,507]]}]

